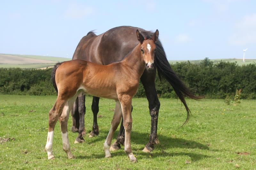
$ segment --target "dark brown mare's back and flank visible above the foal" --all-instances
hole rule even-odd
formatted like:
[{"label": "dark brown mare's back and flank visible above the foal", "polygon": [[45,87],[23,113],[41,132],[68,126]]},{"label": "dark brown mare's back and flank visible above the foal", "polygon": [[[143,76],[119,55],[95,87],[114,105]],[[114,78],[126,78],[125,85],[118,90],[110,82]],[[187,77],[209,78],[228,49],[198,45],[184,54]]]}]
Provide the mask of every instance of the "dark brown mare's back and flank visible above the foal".
[{"label": "dark brown mare's back and flank visible above the foal", "polygon": [[92,63],[107,65],[124,59],[139,43],[132,26],[119,26],[100,35],[84,36],[77,45],[73,59],[84,59]]}]

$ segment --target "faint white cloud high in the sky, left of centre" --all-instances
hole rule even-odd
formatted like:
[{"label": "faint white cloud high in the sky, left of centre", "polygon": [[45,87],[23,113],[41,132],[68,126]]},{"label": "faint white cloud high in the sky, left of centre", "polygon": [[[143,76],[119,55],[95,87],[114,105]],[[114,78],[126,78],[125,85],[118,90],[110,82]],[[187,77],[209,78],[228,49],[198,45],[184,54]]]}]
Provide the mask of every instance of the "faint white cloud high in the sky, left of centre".
[{"label": "faint white cloud high in the sky, left of centre", "polygon": [[92,6],[71,4],[65,11],[65,17],[69,19],[83,19],[94,11]]}]

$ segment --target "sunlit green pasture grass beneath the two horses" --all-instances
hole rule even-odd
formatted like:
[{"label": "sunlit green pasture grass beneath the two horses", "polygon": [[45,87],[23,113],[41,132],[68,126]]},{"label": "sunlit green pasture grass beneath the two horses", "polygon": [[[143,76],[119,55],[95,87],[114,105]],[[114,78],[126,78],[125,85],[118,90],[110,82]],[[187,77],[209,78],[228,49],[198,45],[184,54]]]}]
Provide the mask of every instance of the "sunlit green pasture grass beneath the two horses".
[{"label": "sunlit green pasture grass beneath the two horses", "polygon": [[[158,138],[152,153],[142,149],[148,143],[150,116],[145,98],[133,99],[132,149],[138,159],[130,163],[122,150],[104,158],[103,143],[110,128],[115,102],[100,100],[100,136],[88,138],[92,129],[92,98],[86,97],[83,144],[74,144],[77,133],[69,130],[75,159],[62,150],[59,123],[54,133],[54,160],[47,160],[48,112],[56,96],[0,95],[0,137],[15,138],[0,144],[3,169],[255,169],[256,100],[243,100],[237,106],[224,100],[187,100],[192,111],[188,124],[180,128],[186,114],[180,101],[160,99]],[[32,111],[32,112],[29,112]],[[71,118],[68,129],[71,127]],[[117,134],[117,132],[116,132]],[[116,134],[114,137],[116,137]],[[112,140],[114,142],[115,139]],[[1,169],[0,168],[0,169]]]}]

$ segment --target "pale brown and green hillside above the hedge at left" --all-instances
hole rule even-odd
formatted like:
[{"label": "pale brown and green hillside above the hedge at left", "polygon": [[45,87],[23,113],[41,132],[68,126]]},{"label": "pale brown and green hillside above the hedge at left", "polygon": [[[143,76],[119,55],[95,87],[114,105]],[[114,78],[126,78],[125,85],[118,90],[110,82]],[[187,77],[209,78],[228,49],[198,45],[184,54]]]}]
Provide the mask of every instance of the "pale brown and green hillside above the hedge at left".
[{"label": "pale brown and green hillside above the hedge at left", "polygon": [[55,63],[71,60],[70,58],[41,56],[41,55],[16,55],[0,54],[0,67],[2,68],[46,68]]}]

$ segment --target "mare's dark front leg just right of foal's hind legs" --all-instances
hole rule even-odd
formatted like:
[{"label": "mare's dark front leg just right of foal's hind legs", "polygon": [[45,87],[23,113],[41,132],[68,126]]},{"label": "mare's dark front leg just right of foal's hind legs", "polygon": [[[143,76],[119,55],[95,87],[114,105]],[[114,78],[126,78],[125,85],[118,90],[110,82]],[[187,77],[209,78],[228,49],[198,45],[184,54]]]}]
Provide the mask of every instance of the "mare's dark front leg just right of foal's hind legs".
[{"label": "mare's dark front leg just right of foal's hind legs", "polygon": [[78,95],[78,112],[79,112],[79,130],[78,137],[76,137],[75,143],[84,142],[84,115],[85,115],[85,95],[81,92]]}]

